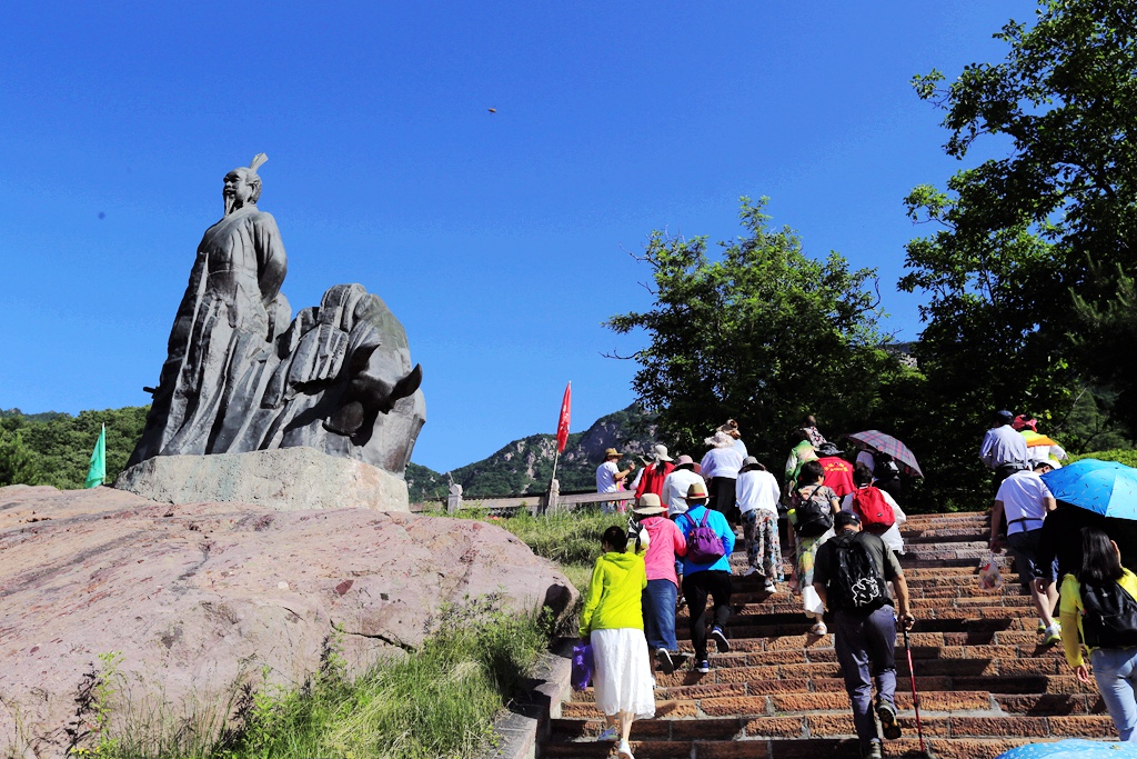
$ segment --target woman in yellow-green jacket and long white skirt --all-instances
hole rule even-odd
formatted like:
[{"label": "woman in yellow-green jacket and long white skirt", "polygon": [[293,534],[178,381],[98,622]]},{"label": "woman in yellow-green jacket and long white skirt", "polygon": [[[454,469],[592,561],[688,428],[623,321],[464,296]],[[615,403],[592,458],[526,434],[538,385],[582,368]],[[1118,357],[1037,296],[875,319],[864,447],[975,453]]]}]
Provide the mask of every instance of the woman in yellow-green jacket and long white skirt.
[{"label": "woman in yellow-green jacket and long white skirt", "polygon": [[605,530],[604,555],[592,568],[580,613],[580,636],[592,644],[592,687],[606,723],[597,740],[619,740],[621,759],[633,759],[628,745],[632,720],[655,716],[655,694],[641,605],[647,570],[644,556],[625,551],[626,543],[620,527]]}]

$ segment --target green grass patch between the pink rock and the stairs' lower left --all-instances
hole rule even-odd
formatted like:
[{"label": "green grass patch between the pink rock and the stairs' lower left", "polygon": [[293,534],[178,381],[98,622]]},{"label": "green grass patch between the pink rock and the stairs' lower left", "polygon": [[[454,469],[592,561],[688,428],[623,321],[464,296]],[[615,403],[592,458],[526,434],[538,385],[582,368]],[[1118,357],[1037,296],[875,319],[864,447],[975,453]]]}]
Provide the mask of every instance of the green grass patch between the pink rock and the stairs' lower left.
[{"label": "green grass patch between the pink rock and the stairs' lower left", "polygon": [[[549,624],[485,596],[450,608],[418,651],[351,679],[334,642],[304,687],[246,691],[239,727],[202,745],[200,731],[155,743],[128,728],[86,756],[115,759],[464,759],[495,741],[493,721],[548,647]],[[110,708],[118,704],[110,699]],[[128,710],[125,710],[128,711]],[[192,727],[192,726],[191,726]]]}]

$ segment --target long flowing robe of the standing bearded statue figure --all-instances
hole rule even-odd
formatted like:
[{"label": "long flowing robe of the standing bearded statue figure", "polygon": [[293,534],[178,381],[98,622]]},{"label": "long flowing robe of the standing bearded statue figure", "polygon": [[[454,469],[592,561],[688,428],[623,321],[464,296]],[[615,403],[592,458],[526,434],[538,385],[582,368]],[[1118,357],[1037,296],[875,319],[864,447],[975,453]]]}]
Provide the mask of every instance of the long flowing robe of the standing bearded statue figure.
[{"label": "long flowing robe of the standing bearded statue figure", "polygon": [[215,452],[234,396],[258,396],[274,368],[275,332],[291,319],[287,270],[276,221],[256,206],[206,230],[131,464]]}]

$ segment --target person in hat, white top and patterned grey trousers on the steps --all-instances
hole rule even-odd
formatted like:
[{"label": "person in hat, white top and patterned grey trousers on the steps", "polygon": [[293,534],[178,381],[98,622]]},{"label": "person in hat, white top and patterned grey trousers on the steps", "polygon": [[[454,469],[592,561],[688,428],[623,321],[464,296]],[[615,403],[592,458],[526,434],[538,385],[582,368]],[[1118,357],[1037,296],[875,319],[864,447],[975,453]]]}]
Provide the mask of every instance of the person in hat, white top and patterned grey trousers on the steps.
[{"label": "person in hat, white top and patterned grey trousers on the steps", "polygon": [[742,535],[746,539],[746,575],[761,574],[763,591],[777,593],[781,574],[781,544],[778,541],[778,501],[781,489],[778,478],[766,471],[754,456],[742,461],[738,472],[736,501],[742,512]]}]

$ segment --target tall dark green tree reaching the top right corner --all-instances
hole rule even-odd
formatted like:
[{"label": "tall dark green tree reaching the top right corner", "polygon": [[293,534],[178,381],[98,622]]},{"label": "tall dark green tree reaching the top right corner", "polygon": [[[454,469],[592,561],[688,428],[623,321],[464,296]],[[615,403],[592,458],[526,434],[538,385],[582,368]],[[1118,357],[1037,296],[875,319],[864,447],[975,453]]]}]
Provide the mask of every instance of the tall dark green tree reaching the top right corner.
[{"label": "tall dark green tree reaching the top right corner", "polygon": [[1002,154],[906,198],[914,221],[937,228],[908,244],[899,287],[928,295],[915,353],[930,416],[945,423],[926,434],[956,452],[938,462],[956,486],[984,477],[974,454],[996,407],[1053,432],[1071,418],[1087,366],[1077,346],[1117,297],[1095,271],[1137,269],[1135,18],[1131,3],[1044,1],[1032,26],[995,34],[1005,60],[966,66],[946,88],[938,71],[913,80],[945,110],[947,155],[964,159],[979,141]]}]

